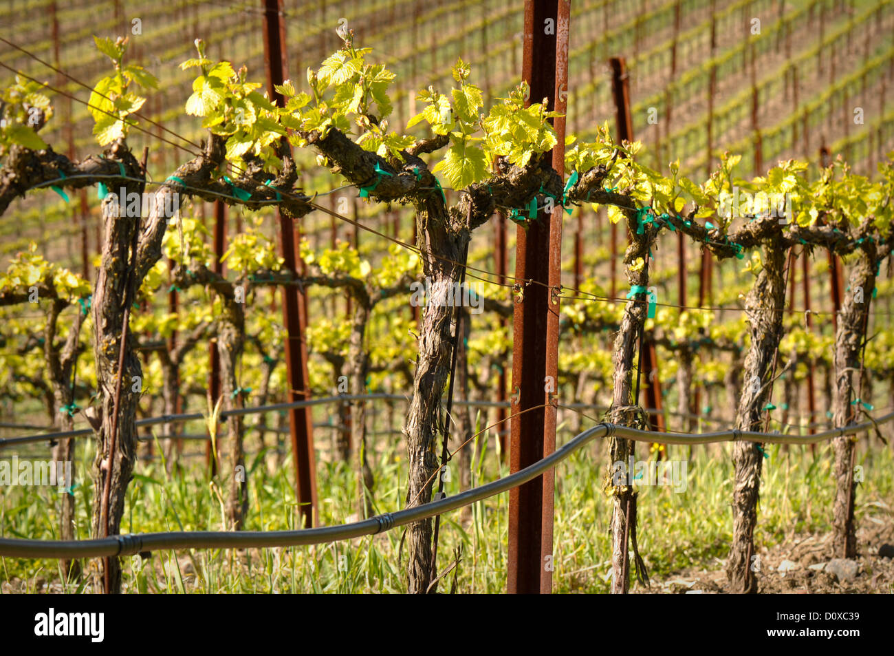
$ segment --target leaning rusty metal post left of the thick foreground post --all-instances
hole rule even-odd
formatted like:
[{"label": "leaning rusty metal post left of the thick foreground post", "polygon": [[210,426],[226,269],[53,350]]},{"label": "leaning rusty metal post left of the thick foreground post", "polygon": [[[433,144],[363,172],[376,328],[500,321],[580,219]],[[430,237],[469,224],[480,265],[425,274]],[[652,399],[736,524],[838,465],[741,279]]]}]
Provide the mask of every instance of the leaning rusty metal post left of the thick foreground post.
[{"label": "leaning rusty metal post left of the thick foreground post", "polygon": [[[283,97],[274,84],[285,80],[285,21],[283,0],[264,0],[264,62],[267,91],[275,104],[283,106]],[[291,217],[277,210],[283,248],[283,267],[292,274],[297,267],[299,236]],[[289,401],[294,403],[310,398],[308,376],[308,345],[304,340],[307,321],[307,301],[296,285],[283,285],[283,319],[288,337],[285,341],[285,362],[289,380]],[[303,316],[302,316],[303,315]],[[292,464],[295,470],[295,493],[299,503],[301,524],[312,526],[316,520],[316,455],[313,442],[313,420],[309,408],[291,408],[290,436]]]}]

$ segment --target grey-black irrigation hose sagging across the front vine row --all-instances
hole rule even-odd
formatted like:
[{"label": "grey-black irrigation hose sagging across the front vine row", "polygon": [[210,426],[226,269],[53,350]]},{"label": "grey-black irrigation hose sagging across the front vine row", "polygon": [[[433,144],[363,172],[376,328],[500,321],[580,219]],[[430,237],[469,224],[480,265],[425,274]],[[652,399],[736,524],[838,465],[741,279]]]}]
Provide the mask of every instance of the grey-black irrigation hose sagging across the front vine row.
[{"label": "grey-black irrigation hose sagging across the front vine row", "polygon": [[[894,412],[885,414],[873,422],[863,422],[847,428],[823,430],[815,435],[796,437],[779,433],[759,433],[750,430],[722,430],[713,433],[691,435],[688,433],[662,433],[662,442],[668,444],[708,444],[712,442],[769,442],[779,444],[809,444],[824,439],[855,435],[871,430],[879,424],[894,419]],[[188,531],[138,533],[135,535],[114,535],[95,540],[21,540],[0,538],[0,557],[9,558],[105,558],[113,556],[131,556],[133,554],[155,550],[178,549],[249,549],[269,547],[295,547],[308,544],[321,544],[339,540],[350,540],[364,535],[389,531],[394,526],[413,524],[434,515],[441,515],[457,508],[493,497],[496,494],[511,490],[536,478],[547,469],[561,463],[562,460],[585,446],[597,437],[617,436],[640,442],[652,442],[655,433],[650,430],[637,430],[611,423],[600,423],[580,433],[563,447],[556,449],[549,456],[538,460],[519,472],[512,473],[496,481],[485,483],[477,488],[460,492],[452,497],[439,499],[422,506],[399,510],[396,513],[375,515],[363,522],[320,526],[298,531]]]}]

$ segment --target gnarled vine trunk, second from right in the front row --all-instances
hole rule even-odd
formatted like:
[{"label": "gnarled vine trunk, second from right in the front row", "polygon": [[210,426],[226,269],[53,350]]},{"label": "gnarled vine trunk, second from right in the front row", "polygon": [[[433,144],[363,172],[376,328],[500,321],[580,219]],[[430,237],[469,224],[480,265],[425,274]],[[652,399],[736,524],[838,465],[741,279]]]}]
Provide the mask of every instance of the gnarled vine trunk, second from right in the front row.
[{"label": "gnarled vine trunk, second from right in the front row", "polygon": [[[763,268],[748,292],[745,310],[751,346],[745,358],[745,379],[736,413],[738,430],[762,430],[764,407],[770,400],[772,369],[782,337],[785,307],[785,249],[769,244],[763,249]],[[730,592],[757,592],[753,571],[754,532],[760,496],[762,447],[753,442],[733,446],[735,478],[732,502],[733,533],[726,570]]]}]

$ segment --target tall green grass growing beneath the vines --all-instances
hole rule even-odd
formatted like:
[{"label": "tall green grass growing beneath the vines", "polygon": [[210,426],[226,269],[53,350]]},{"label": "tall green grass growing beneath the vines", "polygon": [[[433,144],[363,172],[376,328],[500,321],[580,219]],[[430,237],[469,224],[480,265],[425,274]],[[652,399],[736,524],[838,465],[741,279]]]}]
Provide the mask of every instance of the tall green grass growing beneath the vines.
[{"label": "tall green grass growing beneath the vines", "polygon": [[[562,430],[568,439],[569,430]],[[257,439],[249,439],[249,447]],[[499,463],[495,438],[485,433],[474,444],[472,484],[508,473]],[[82,442],[78,476],[85,480],[84,463],[92,459],[92,446]],[[375,462],[376,511],[400,509],[406,494],[403,446],[395,439],[378,439]],[[156,449],[156,453],[158,449]],[[604,443],[586,447],[559,465],[556,479],[553,582],[556,592],[608,592],[610,572],[611,498],[606,481]],[[639,457],[645,446],[638,445]],[[650,575],[661,579],[686,567],[718,568],[727,556],[731,531],[732,464],[730,446],[695,447],[687,467],[686,489],[640,486],[638,537],[640,552]],[[764,461],[757,548],[770,548],[796,532],[831,531],[834,479],[831,446],[821,445],[815,456],[809,448],[771,446]],[[317,485],[321,524],[350,521],[356,512],[354,476],[341,462],[318,464]],[[685,459],[687,447],[669,447],[671,460]],[[249,456],[250,507],[246,528],[273,531],[295,528],[297,505],[290,481],[289,458],[274,465],[272,450]],[[892,498],[891,450],[863,440],[859,462],[865,481],[857,493],[857,522],[864,515],[885,514]],[[268,462],[270,461],[270,462]],[[204,458],[188,458],[181,475],[167,476],[155,462],[140,464],[131,482],[122,520],[122,532],[222,530],[223,503],[210,485]],[[456,460],[454,460],[454,463]],[[199,464],[200,463],[200,464]],[[446,483],[448,494],[459,490],[454,471]],[[75,493],[77,535],[89,537],[91,485]],[[0,532],[6,537],[53,539],[57,537],[61,497],[55,488],[13,487],[3,495]],[[443,579],[440,590],[457,592],[505,591],[507,502],[505,494],[478,502],[468,516],[461,511],[443,516],[438,549],[439,571],[460,564]],[[880,505],[881,504],[881,505]],[[288,549],[190,550],[174,554],[156,552],[152,558],[124,560],[124,592],[405,592],[401,565],[401,533],[391,532],[340,543]],[[404,561],[406,552],[402,554]],[[37,592],[44,582],[59,584],[59,591],[81,592],[84,584],[62,581],[55,561],[0,559],[0,582]]]}]

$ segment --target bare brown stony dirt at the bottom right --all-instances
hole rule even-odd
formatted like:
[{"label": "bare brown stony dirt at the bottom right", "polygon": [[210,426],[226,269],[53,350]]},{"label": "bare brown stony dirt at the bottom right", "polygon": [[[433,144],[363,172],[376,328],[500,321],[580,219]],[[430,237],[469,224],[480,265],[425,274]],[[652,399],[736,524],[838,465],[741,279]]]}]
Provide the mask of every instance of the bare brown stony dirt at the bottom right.
[{"label": "bare brown stony dirt at the bottom right", "polygon": [[[894,558],[881,558],[879,548],[894,544],[894,524],[871,524],[857,531],[856,563],[852,580],[824,571],[831,560],[831,533],[799,534],[760,552],[758,592],[769,594],[866,594],[894,592]],[[785,566],[780,565],[786,562]],[[782,571],[780,571],[780,569]],[[728,592],[726,573],[718,561],[710,570],[689,568],[663,581],[652,581],[651,590],[636,593],[718,594]]]}]

